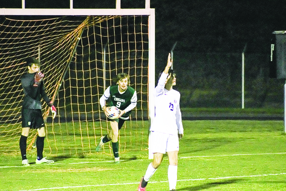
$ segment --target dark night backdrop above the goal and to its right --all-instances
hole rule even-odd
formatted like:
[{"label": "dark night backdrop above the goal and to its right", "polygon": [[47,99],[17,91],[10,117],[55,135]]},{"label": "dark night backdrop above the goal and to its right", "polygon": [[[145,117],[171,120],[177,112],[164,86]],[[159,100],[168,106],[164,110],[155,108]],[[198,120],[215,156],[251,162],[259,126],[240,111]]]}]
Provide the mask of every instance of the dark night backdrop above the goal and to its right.
[{"label": "dark night backdrop above the goal and to its right", "polygon": [[[73,0],[74,9],[115,6],[116,0]],[[22,0],[2,0],[0,7],[21,8]],[[285,80],[269,79],[268,54],[272,32],[286,30],[286,0],[150,0],[150,7],[156,14],[155,73],[165,67],[177,42],[176,88],[184,91],[186,106],[240,107],[244,47],[247,107],[283,106]],[[26,0],[25,8],[68,9],[70,0]],[[145,8],[145,0],[121,0],[121,8]],[[209,103],[189,101],[197,89],[219,92],[218,104],[209,95]]]}]

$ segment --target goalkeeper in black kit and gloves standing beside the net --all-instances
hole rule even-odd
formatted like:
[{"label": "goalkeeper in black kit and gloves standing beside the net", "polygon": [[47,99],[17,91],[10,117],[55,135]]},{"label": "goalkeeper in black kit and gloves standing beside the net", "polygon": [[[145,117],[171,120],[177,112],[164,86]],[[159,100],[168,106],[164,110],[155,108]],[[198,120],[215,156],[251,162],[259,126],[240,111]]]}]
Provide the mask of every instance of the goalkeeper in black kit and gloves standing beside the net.
[{"label": "goalkeeper in black kit and gloves standing beside the net", "polygon": [[36,164],[54,163],[54,161],[47,160],[43,157],[44,139],[46,136],[45,123],[42,116],[41,99],[51,108],[53,118],[56,116],[56,108],[50,102],[46,94],[43,77],[44,75],[39,71],[40,62],[34,57],[26,59],[28,73],[24,74],[21,79],[24,100],[22,103],[22,134],[20,138],[20,150],[22,155],[22,165],[30,166],[26,157],[27,137],[30,129],[37,129],[38,137],[36,140],[37,159]]}]

